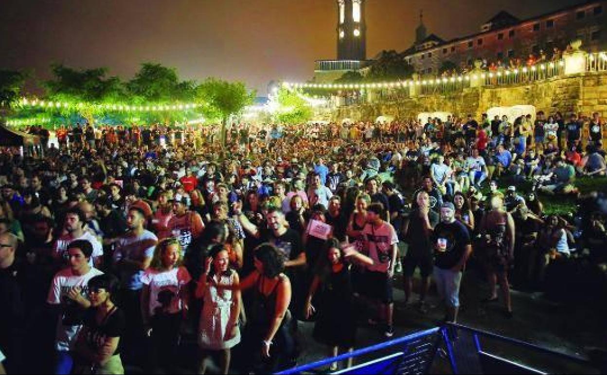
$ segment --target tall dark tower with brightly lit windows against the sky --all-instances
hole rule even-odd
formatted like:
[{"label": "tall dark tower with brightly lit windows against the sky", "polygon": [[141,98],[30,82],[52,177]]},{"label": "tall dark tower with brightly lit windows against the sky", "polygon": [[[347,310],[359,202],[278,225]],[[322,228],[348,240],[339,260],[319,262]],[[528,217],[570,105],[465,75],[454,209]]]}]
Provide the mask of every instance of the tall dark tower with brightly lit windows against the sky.
[{"label": "tall dark tower with brightly lit windows against the sky", "polygon": [[367,60],[365,0],[337,0],[337,60]]}]

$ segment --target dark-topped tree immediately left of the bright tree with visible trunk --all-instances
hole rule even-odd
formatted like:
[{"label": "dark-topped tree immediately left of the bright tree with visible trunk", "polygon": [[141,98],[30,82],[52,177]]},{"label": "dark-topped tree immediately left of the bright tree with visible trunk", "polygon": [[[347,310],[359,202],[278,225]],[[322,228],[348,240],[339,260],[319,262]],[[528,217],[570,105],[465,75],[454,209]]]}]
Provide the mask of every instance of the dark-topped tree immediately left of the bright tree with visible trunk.
[{"label": "dark-topped tree immediately left of the bright tree with visible trunk", "polygon": [[190,101],[195,95],[194,81],[180,81],[177,69],[162,64],[143,63],[126,88],[134,103],[174,103]]}]

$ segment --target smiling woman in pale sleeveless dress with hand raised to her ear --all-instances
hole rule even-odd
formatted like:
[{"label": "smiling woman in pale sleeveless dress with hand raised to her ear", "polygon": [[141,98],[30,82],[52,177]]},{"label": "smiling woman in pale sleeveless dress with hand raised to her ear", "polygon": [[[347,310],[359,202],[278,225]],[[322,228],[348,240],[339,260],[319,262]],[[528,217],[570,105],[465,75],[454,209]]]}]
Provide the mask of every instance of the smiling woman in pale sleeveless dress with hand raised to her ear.
[{"label": "smiling woman in pale sleeveless dress with hand raised to her ear", "polygon": [[[198,328],[198,346],[202,350],[199,374],[206,373],[206,362],[212,356],[219,356],[221,373],[228,373],[230,349],[240,342],[238,320],[242,299],[237,289],[239,283],[225,247],[222,244],[211,246],[195,292],[195,297],[203,300]],[[218,289],[217,285],[231,286],[235,290]]]}]

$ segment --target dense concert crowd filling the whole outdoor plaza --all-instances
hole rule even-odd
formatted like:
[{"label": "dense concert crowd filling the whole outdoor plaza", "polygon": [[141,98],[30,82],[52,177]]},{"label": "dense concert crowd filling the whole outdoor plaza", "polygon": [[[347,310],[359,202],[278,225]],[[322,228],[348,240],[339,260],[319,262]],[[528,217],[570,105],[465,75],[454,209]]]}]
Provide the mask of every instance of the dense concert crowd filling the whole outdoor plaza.
[{"label": "dense concert crowd filling the whole outdoor plaza", "polygon": [[[234,124],[223,135],[62,126],[58,146],[2,150],[4,365],[174,371],[193,337],[199,373],[271,373],[296,363],[301,321],[332,356],[356,346],[361,324],[392,337],[401,274],[397,302],[436,308],[433,280],[446,322],[472,270],[489,285],[478,298],[501,300],[504,319],[510,285],[600,295],[607,196],[581,194],[576,178],[605,176],[605,122],[534,115]],[[579,209],[547,215],[548,194]]]}]

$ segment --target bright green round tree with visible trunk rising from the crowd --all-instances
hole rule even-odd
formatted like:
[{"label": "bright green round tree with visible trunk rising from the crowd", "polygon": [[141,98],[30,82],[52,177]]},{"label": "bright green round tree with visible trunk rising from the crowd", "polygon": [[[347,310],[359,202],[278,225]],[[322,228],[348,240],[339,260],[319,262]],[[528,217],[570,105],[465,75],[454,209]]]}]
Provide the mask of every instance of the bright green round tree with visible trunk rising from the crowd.
[{"label": "bright green round tree with visible trunk rising from the crowd", "polygon": [[219,118],[222,122],[221,142],[225,146],[226,125],[230,115],[237,115],[253,104],[254,91],[248,91],[242,82],[228,82],[207,78],[196,89],[196,100],[202,104],[201,112],[207,119]]}]

